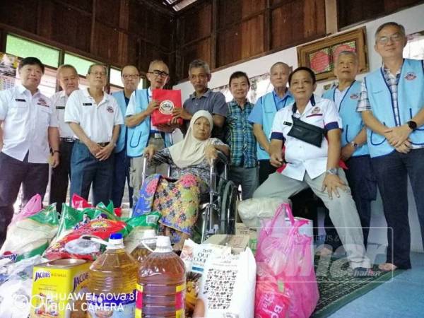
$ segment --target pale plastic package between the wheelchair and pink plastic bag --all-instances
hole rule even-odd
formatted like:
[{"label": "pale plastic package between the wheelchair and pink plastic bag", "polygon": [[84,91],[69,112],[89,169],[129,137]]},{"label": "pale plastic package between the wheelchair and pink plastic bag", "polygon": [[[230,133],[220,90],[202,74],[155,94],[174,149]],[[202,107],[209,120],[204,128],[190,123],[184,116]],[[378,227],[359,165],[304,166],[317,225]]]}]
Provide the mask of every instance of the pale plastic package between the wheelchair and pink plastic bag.
[{"label": "pale plastic package between the wheelchair and pink plastic bag", "polygon": [[272,218],[278,206],[283,203],[278,198],[254,198],[240,201],[237,211],[243,223],[250,228],[259,228],[260,220]]}]

